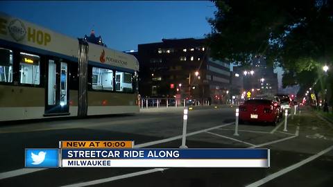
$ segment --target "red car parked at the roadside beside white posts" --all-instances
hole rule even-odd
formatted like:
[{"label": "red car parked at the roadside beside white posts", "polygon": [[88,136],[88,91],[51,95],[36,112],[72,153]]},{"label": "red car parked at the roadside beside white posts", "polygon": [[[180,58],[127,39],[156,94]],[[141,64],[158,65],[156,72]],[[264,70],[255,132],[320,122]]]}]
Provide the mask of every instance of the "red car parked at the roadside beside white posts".
[{"label": "red car parked at the roadside beside white posts", "polygon": [[276,125],[280,120],[280,103],[274,99],[249,99],[239,106],[239,120]]}]

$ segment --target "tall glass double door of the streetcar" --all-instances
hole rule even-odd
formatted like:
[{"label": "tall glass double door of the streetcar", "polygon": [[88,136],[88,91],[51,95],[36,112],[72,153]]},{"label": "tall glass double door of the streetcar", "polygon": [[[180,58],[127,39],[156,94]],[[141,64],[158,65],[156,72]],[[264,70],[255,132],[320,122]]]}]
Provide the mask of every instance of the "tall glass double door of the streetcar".
[{"label": "tall glass double door of the streetcar", "polygon": [[68,66],[66,62],[49,60],[46,84],[47,115],[69,115]]}]

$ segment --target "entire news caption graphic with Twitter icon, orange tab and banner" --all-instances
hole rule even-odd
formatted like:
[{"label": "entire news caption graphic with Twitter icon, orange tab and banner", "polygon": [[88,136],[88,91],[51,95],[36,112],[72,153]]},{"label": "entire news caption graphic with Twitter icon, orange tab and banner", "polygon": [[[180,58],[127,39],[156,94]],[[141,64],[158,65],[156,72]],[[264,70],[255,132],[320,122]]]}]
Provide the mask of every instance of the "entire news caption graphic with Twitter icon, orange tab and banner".
[{"label": "entire news caption graphic with Twitter icon, orange tab and banner", "polygon": [[26,168],[268,168],[265,148],[134,148],[133,141],[60,141],[26,149]]}]

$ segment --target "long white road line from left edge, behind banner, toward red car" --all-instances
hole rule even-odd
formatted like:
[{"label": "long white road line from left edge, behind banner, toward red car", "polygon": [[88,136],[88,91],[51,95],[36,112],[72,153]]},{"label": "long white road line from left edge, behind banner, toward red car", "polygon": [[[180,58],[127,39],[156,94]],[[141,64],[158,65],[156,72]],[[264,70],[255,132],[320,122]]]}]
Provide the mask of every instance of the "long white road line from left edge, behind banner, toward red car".
[{"label": "long white road line from left edge, behind banner, toward red car", "polygon": [[[228,126],[228,125],[232,125],[233,123],[234,122],[225,123],[223,125],[219,125],[219,126],[216,126],[216,127],[207,128],[205,130],[190,132],[190,133],[187,133],[186,136],[192,136],[192,135],[195,135],[195,134],[206,132],[208,130],[214,130],[214,129],[217,129],[217,128],[220,128],[220,127],[225,127],[225,126]],[[174,137],[171,137],[169,139],[162,139],[162,140],[159,140],[159,141],[151,141],[151,142],[147,142],[147,143],[138,144],[138,145],[135,145],[134,147],[135,148],[144,148],[144,147],[148,147],[148,146],[151,146],[151,145],[166,143],[166,142],[174,141],[174,140],[181,139],[181,138],[182,138],[182,135],[174,136]],[[10,177],[17,177],[17,176],[20,176],[20,175],[26,175],[26,174],[29,174],[29,173],[32,173],[32,172],[37,172],[37,171],[40,171],[40,170],[47,170],[47,169],[49,169],[49,168],[36,168],[36,169],[35,168],[21,168],[21,169],[18,169],[18,170],[10,170],[8,172],[1,172],[0,173],[0,179],[7,179],[7,178],[10,178]]]}]

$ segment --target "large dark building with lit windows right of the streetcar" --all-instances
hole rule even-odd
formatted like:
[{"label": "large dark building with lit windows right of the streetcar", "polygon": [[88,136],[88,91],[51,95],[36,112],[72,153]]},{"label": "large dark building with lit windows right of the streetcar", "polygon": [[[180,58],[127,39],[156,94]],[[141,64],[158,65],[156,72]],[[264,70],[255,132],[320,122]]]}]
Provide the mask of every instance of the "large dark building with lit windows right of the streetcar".
[{"label": "large dark building with lit windows right of the streetcar", "polygon": [[139,44],[139,93],[143,97],[223,103],[230,64],[213,60],[205,39],[162,39]]}]

